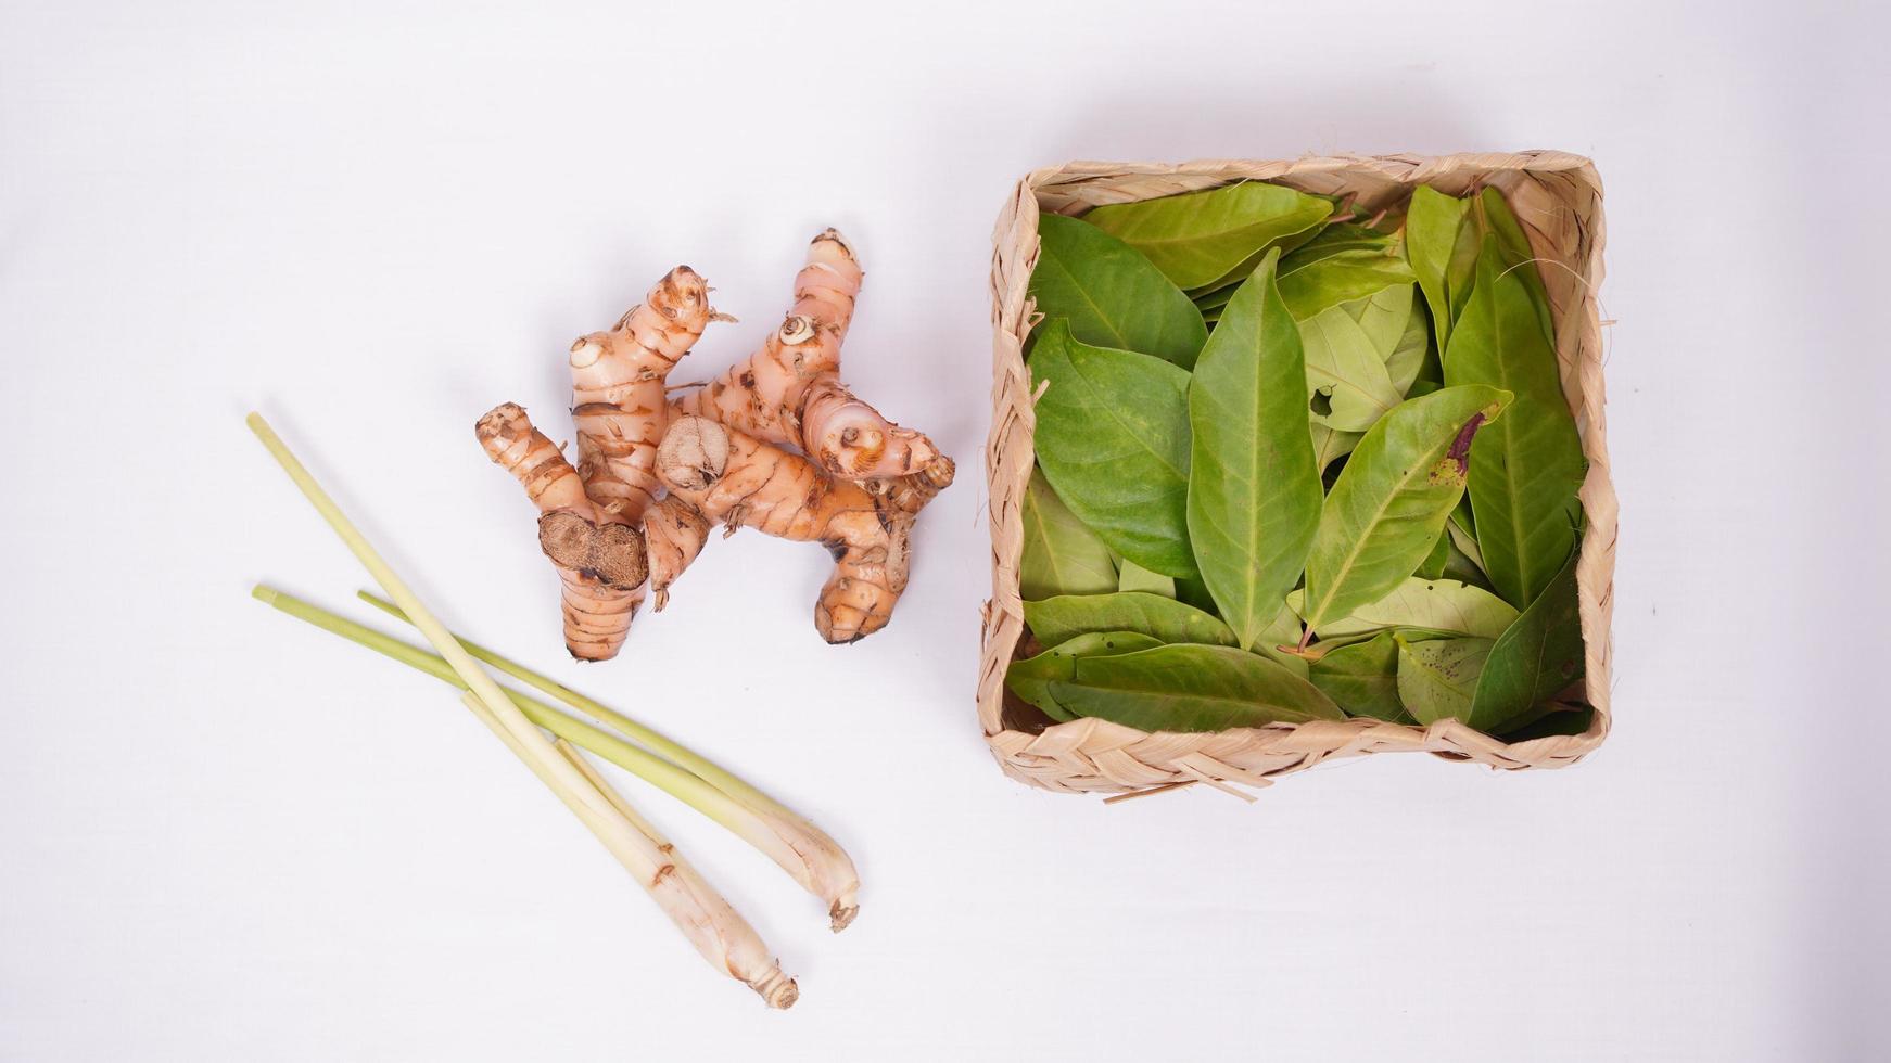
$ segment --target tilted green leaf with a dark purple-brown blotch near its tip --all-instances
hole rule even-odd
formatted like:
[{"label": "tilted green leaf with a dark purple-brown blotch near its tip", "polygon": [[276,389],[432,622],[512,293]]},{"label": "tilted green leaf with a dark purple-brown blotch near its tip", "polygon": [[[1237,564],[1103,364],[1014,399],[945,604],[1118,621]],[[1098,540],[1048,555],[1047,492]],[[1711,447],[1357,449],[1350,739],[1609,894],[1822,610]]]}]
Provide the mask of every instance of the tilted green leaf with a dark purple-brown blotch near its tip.
[{"label": "tilted green leaf with a dark purple-brown blotch near its tip", "polygon": [[1418,568],[1464,493],[1471,440],[1509,400],[1496,387],[1447,387],[1401,402],[1365,432],[1307,555],[1301,616],[1314,631],[1377,602]]}]

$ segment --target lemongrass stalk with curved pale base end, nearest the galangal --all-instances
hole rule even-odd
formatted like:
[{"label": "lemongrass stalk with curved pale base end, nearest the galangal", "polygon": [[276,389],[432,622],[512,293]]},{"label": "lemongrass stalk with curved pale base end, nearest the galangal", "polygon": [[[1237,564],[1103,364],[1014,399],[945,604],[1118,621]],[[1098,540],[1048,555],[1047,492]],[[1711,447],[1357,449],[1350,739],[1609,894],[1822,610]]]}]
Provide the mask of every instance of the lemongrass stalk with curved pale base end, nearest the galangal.
[{"label": "lemongrass stalk with curved pale base end, nearest the galangal", "polygon": [[[412,623],[412,619],[408,619],[408,616],[403,614],[397,604],[380,599],[376,595],[371,595],[369,591],[361,591],[359,597],[361,600],[386,612],[388,616]],[[794,880],[800,882],[802,887],[806,887],[809,893],[826,901],[828,923],[836,933],[845,929],[847,923],[851,923],[853,918],[860,914],[860,903],[859,903],[860,876],[853,867],[853,859],[849,859],[847,852],[840,848],[840,842],[830,838],[824,831],[821,831],[802,816],[794,814],[789,806],[781,804],[779,801],[762,793],[760,789],[749,785],[739,776],[730,774],[726,768],[703,757],[702,753],[690,750],[688,746],[683,746],[677,740],[662,734],[660,731],[637,723],[635,719],[624,716],[622,712],[616,712],[607,704],[584,697],[552,678],[533,672],[531,668],[520,665],[518,661],[503,657],[469,638],[461,638],[460,646],[463,646],[465,651],[477,657],[478,661],[492,665],[494,668],[505,672],[507,676],[512,676],[514,680],[529,687],[552,695],[558,700],[569,704],[571,708],[590,716],[592,719],[598,719],[599,723],[613,727],[620,734],[630,736],[633,742],[639,742],[658,757],[707,782],[709,785],[722,791],[724,795],[739,802],[743,808],[758,816],[773,835],[772,844],[764,844],[762,840],[756,840],[755,836],[737,831],[736,827],[730,829],[747,838],[764,853],[768,853],[775,863],[783,867],[783,870],[792,874]],[[590,746],[582,738],[573,738],[573,742],[630,768],[632,772],[643,774],[639,768],[616,761],[616,757],[611,757],[609,751]]]}]

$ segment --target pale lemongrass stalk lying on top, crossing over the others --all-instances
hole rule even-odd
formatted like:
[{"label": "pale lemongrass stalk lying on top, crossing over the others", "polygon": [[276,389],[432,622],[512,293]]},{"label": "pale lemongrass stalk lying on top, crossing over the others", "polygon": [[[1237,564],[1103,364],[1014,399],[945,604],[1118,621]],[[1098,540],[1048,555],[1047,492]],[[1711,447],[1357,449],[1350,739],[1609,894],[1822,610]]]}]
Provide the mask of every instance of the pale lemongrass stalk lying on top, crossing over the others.
[{"label": "pale lemongrass stalk lying on top, crossing over the others", "polygon": [[[526,765],[531,767],[533,774],[546,780],[562,801],[577,802],[584,808],[584,821],[596,823],[594,833],[611,850],[626,870],[632,872],[637,882],[645,886],[645,891],[664,908],[671,923],[690,942],[698,952],[709,961],[711,967],[745,982],[756,993],[762,993],[764,1001],[773,1004],[773,997],[781,995],[783,974],[775,967],[773,957],[768,950],[760,950],[760,957],[766,963],[756,963],[756,957],[747,950],[743,953],[734,953],[722,950],[722,942],[705,936],[705,927],[715,923],[715,914],[702,908],[690,908],[696,901],[692,895],[681,891],[662,889],[664,876],[658,869],[664,867],[662,853],[656,852],[656,844],[643,833],[639,833],[624,816],[601,795],[598,787],[584,780],[582,774],[571,761],[558,755],[550,740],[539,733],[531,721],[526,719],[518,706],[512,704],[499,683],[460,648],[460,642],[446,631],[418,595],[395,574],[380,553],[367,542],[367,536],[342,514],[335,498],[316,483],[316,478],[303,466],[301,461],[289,451],[287,444],[276,436],[276,430],[269,427],[269,421],[261,413],[250,413],[246,419],[250,430],[263,442],[276,464],[289,474],[289,480],[303,491],[308,502],[321,514],[321,519],[335,531],[337,536],[348,546],[357,561],[374,576],[374,582],[388,591],[388,597],[401,604],[401,610],[412,617],[414,627],[427,636],[427,642],[439,650],[441,657],[452,665],[454,672],[465,680],[469,687],[469,700],[478,700],[486,712],[492,714],[492,723],[501,731],[509,733],[512,742],[516,742],[518,753],[524,757]],[[484,717],[482,717],[484,719]],[[509,742],[511,744],[511,742]],[[753,931],[751,931],[753,935]]]}]

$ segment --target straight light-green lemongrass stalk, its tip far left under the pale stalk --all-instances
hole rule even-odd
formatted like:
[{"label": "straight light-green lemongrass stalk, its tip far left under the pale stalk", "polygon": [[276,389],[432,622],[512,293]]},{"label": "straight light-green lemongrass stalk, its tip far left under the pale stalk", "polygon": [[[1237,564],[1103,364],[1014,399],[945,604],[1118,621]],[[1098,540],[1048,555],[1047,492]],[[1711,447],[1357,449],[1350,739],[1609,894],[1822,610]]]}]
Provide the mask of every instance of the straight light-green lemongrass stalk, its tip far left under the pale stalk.
[{"label": "straight light-green lemongrass stalk, its tip far left under the pale stalk", "polygon": [[[384,657],[391,657],[408,668],[425,672],[435,680],[452,683],[461,691],[467,689],[465,680],[446,665],[437,653],[427,653],[425,650],[401,642],[399,638],[374,631],[363,623],[356,623],[344,616],[337,616],[314,602],[306,602],[278,591],[274,587],[257,585],[250,591],[257,600],[293,616],[304,623],[320,627],[327,633],[338,634],[350,642],[365,646]],[[633,746],[624,738],[611,734],[599,727],[592,727],[582,719],[565,716],[556,706],[539,700],[528,693],[499,687],[505,695],[518,706],[518,712],[526,716],[531,723],[545,727],[558,738],[565,738],[584,746],[586,750],[598,753],[599,757],[618,765],[620,768],[643,778],[645,782],[656,785],[658,789],[669,793],[677,801],[688,804],[690,808],[702,812],[709,819],[726,827],[737,838],[749,842],[760,850],[766,857],[781,865],[789,874],[800,878],[800,870],[807,863],[800,853],[783,838],[781,831],[756,814],[749,806],[722,793],[715,785],[709,785],[700,776],[677,767],[671,761],[651,753],[641,746]],[[605,795],[609,801],[609,795]],[[635,823],[633,823],[635,825]]]}]

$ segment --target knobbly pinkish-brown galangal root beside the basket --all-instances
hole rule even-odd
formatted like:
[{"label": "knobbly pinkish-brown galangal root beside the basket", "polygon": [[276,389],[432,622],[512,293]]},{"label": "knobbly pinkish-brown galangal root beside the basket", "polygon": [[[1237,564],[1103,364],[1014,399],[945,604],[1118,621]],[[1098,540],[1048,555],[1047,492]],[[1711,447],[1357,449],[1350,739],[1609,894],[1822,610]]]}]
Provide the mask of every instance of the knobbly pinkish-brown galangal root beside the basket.
[{"label": "knobbly pinkish-brown galangal root beside the basket", "polygon": [[671,402],[669,370],[709,321],[732,321],[709,306],[709,285],[677,266],[613,329],[571,344],[577,466],[516,404],[480,417],[486,453],[539,506],[573,657],[615,657],[645,595],[662,610],[717,523],[834,553],[815,606],[828,642],[887,625],[906,589],[913,517],[951,485],[953,463],[840,381],[860,278],[840,232],[821,232],[781,327]]}]

